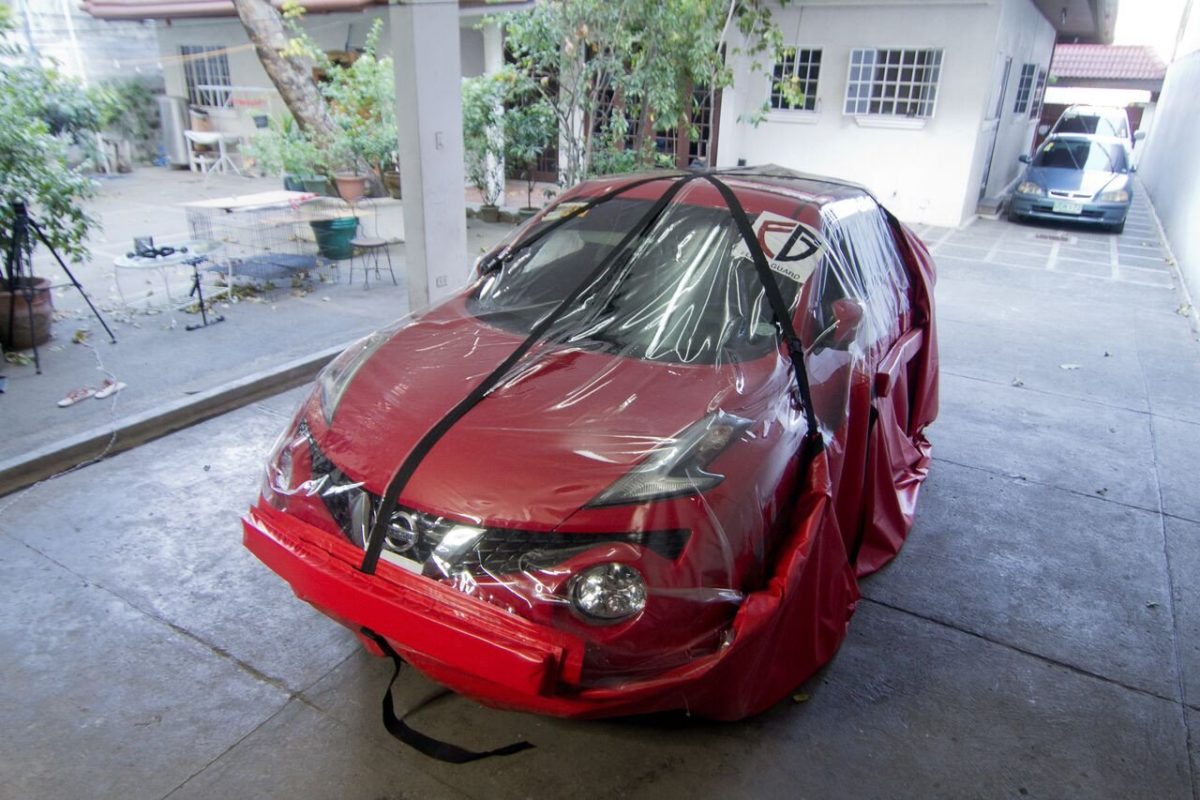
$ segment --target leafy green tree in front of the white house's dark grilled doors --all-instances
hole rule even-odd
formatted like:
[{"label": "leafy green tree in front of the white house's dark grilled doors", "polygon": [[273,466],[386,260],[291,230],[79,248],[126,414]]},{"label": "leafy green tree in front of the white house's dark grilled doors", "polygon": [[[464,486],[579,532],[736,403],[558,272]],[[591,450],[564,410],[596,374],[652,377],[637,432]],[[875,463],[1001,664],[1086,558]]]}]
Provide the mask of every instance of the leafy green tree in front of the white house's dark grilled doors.
[{"label": "leafy green tree in front of the white house's dark grilled doors", "polygon": [[696,90],[732,83],[726,52],[750,55],[752,68],[769,74],[775,59],[764,65],[760,56],[782,49],[770,6],[772,0],[544,0],[503,17],[510,53],[558,121],[564,182],[578,182],[598,166],[655,163],[655,133],[691,128]]}]

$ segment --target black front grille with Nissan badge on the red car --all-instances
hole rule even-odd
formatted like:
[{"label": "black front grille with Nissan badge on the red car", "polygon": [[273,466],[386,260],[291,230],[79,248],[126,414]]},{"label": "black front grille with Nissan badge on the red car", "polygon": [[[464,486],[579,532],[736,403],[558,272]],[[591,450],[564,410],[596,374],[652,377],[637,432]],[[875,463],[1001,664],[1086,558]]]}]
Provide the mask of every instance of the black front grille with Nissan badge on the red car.
[{"label": "black front grille with Nissan badge on the red car", "polygon": [[[374,519],[383,498],[366,492],[361,483],[353,481],[340,470],[325,453],[320,451],[312,438],[307,422],[301,422],[298,431],[308,443],[312,458],[312,477],[319,487],[318,494],[329,515],[342,533],[358,547],[365,546],[366,531]],[[370,516],[356,515],[355,506],[370,504]],[[355,522],[355,517],[360,522]],[[640,533],[602,533],[602,534],[566,534],[559,531],[520,530],[511,528],[486,528],[479,539],[468,548],[456,553],[452,561],[443,565],[433,564],[434,551],[443,543],[445,536],[462,523],[446,517],[424,513],[413,509],[397,506],[392,512],[394,525],[384,539],[384,547],[397,555],[426,567],[426,572],[440,575],[445,566],[455,570],[468,570],[475,575],[506,575],[534,569],[546,569],[562,564],[593,547],[605,545],[635,545],[644,547],[667,560],[676,560],[683,554],[690,533],[686,530],[652,530]],[[358,529],[361,525],[361,529]],[[431,571],[430,567],[434,569]]]}]

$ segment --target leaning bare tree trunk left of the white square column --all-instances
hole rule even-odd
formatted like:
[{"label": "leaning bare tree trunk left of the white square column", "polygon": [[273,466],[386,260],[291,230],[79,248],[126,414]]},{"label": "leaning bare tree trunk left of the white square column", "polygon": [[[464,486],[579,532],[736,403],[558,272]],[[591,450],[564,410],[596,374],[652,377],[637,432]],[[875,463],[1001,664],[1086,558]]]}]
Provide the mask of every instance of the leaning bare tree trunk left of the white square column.
[{"label": "leaning bare tree trunk left of the white square column", "polygon": [[325,98],[320,96],[312,77],[312,60],[305,56],[284,56],[280,52],[288,44],[283,17],[270,0],[233,0],[246,35],[254,43],[258,60],[263,62],[271,83],[278,90],[296,124],[316,139],[334,138],[334,122]]}]

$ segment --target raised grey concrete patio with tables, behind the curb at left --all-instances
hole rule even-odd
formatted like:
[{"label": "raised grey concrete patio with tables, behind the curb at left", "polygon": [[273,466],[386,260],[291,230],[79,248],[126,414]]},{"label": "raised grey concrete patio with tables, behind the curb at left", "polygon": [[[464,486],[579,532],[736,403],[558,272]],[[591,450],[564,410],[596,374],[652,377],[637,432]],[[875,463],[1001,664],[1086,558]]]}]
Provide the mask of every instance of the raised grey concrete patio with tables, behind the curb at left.
[{"label": "raised grey concrete patio with tables, behind the curb at left", "polygon": [[[101,179],[100,194],[89,207],[102,227],[90,241],[91,259],[72,270],[100,306],[118,344],[109,343],[74,288],[54,291],[59,319],[54,338],[41,348],[43,373],[35,374],[32,366],[0,365],[0,374],[8,378],[7,392],[0,395],[0,414],[6,421],[0,470],[6,462],[35,450],[109,432],[127,419],[178,407],[180,401],[217,386],[270,375],[288,361],[348,344],[408,312],[403,215],[401,204],[390,199],[360,205],[368,234],[378,231],[397,240],[390,249],[398,285],[384,271],[378,278],[372,276],[366,289],[361,270],[355,271],[352,285],[348,265],[342,263],[337,272],[326,276],[330,279],[314,281],[304,291],[284,284],[240,302],[220,302],[217,311],[226,317],[224,323],[188,332],[185,325],[199,323],[199,315],[163,313],[167,302],[157,273],[116,273],[113,259],[131,248],[133,236],[151,234],[157,242],[187,236],[182,203],[277,188],[277,179],[204,179],[155,167]],[[479,252],[510,229],[472,219],[468,252]],[[464,278],[468,266],[462,269]],[[35,270],[55,283],[66,281],[42,248],[35,254]],[[190,278],[186,266],[168,270],[174,297],[186,296]],[[78,330],[89,332],[84,344],[72,342]],[[65,409],[56,405],[72,389],[98,386],[107,375],[128,387],[106,401],[88,399]]]}]

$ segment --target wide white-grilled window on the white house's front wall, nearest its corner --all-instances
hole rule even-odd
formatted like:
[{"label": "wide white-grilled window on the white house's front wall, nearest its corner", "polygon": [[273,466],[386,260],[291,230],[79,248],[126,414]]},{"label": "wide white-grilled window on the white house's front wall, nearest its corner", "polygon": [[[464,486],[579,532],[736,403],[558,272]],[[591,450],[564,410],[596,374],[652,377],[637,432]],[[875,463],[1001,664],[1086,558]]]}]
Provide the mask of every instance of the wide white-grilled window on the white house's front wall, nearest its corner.
[{"label": "wide white-grilled window on the white house's front wall, nearest its corner", "polygon": [[845,113],[928,119],[941,76],[941,49],[851,50]]}]

